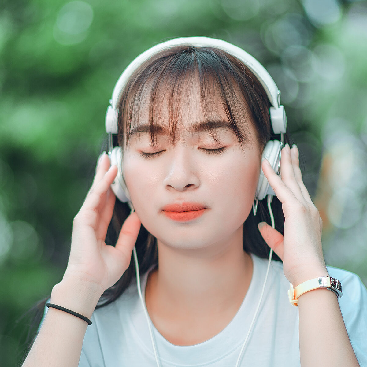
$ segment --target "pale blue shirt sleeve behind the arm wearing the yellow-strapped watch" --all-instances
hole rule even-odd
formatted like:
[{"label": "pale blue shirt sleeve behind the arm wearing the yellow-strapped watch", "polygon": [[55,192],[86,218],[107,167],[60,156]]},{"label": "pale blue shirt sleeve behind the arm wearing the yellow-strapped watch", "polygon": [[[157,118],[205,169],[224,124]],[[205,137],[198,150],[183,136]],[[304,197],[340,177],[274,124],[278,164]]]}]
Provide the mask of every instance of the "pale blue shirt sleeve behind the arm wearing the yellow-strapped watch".
[{"label": "pale blue shirt sleeve behind the arm wearing the yellow-strapped watch", "polygon": [[[334,271],[338,270],[338,271]],[[361,367],[367,367],[367,289],[357,274],[331,268],[330,276],[341,281],[338,299],[350,344]]]}]

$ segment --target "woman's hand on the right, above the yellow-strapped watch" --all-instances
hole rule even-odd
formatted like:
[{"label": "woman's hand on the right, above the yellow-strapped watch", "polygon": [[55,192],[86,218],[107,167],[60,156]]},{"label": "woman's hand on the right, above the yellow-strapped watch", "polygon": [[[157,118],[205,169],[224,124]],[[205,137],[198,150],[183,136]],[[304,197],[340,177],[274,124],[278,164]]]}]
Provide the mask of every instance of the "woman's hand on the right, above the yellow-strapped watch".
[{"label": "woman's hand on the right, above the yellow-strapped watch", "polygon": [[[296,287],[303,281],[328,276],[322,246],[323,222],[302,181],[297,146],[281,151],[281,178],[268,160],[261,163],[265,177],[283,204],[284,236],[272,226],[259,224],[265,242],[283,260],[284,275]],[[261,222],[265,223],[265,222]]]}]

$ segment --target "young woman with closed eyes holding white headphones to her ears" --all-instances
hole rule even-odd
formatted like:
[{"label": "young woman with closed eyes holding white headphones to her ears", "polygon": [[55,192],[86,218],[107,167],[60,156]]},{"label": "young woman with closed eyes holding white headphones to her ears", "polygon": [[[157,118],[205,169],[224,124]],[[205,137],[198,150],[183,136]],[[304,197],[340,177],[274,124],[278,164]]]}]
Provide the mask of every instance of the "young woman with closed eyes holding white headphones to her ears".
[{"label": "young woman with closed eyes holding white headphones to her ears", "polygon": [[132,61],[110,102],[110,154],[23,366],[367,366],[366,288],[324,262],[258,61],[170,40]]}]

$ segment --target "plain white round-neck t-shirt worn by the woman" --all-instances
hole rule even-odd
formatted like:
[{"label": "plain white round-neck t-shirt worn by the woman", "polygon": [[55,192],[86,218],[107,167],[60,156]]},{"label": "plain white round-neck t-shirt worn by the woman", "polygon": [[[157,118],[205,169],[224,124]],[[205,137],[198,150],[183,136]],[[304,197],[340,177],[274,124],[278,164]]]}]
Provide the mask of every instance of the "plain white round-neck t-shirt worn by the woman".
[{"label": "plain white round-neck t-shirt worn by the woman", "polygon": [[[177,346],[168,342],[152,324],[161,367],[236,366],[268,266],[268,259],[253,254],[251,257],[254,268],[246,296],[232,321],[219,334],[200,344]],[[327,266],[327,270],[331,277],[342,283],[343,296],[339,298],[339,306],[357,360],[361,367],[367,367],[366,287],[354,273],[331,266]],[[147,277],[148,272],[141,277],[143,295]],[[273,260],[264,297],[240,366],[301,366],[298,307],[289,303],[289,284],[283,273],[283,264]],[[45,315],[47,310],[45,307]],[[84,337],[79,367],[156,366],[136,282],[132,282],[111,304],[95,309],[91,321],[92,325],[88,326]]]}]

